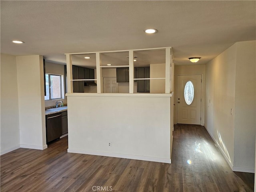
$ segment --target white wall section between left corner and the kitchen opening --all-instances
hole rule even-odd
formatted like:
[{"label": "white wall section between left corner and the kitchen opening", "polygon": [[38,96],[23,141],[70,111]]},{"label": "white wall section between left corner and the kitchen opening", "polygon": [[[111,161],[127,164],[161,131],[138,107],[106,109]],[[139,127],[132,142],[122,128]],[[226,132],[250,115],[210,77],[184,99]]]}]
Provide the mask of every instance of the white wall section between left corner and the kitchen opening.
[{"label": "white wall section between left corner and the kitchen opening", "polygon": [[20,146],[44,149],[46,145],[44,70],[39,55],[17,56]]}]

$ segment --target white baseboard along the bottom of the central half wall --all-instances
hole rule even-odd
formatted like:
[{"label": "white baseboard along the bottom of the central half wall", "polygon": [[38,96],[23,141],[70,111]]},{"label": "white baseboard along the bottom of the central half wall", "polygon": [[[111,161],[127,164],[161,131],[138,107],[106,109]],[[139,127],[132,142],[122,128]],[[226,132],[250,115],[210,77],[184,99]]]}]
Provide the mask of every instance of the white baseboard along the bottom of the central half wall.
[{"label": "white baseboard along the bottom of the central half wall", "polygon": [[80,154],[88,154],[88,155],[117,157],[117,158],[135,159],[135,160],[143,160],[143,161],[153,161],[153,162],[160,162],[160,163],[171,163],[170,159],[165,159],[165,158],[128,155],[128,154],[118,154],[118,153],[108,153],[108,152],[98,152],[98,151],[87,151],[87,150],[70,149],[70,148],[68,148],[68,153],[80,153]]}]

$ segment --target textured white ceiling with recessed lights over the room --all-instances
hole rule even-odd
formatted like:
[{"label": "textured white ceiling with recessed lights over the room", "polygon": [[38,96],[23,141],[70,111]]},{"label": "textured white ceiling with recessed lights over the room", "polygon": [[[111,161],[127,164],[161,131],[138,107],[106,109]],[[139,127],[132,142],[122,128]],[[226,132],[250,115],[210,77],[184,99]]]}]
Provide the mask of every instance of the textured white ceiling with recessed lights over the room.
[{"label": "textured white ceiling with recessed lights over the room", "polygon": [[[66,62],[65,53],[172,46],[175,64],[192,64],[193,56],[206,64],[235,42],[256,40],[256,1],[1,0],[0,6],[1,53],[57,63]],[[146,28],[158,32],[145,34]]]}]

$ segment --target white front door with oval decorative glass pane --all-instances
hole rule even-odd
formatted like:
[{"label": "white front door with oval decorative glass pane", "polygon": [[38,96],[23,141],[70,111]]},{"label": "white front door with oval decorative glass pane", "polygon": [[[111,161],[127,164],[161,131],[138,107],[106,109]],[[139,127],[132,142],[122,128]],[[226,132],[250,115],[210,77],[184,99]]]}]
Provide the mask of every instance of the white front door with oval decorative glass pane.
[{"label": "white front door with oval decorative glass pane", "polygon": [[201,124],[202,75],[178,75],[177,123]]}]

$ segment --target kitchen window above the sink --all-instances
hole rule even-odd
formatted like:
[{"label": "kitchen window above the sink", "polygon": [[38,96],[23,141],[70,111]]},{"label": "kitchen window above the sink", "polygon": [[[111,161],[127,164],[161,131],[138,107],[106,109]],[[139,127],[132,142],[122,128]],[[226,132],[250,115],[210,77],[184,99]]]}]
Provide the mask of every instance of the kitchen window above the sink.
[{"label": "kitchen window above the sink", "polygon": [[62,98],[61,76],[45,74],[46,96],[44,100],[53,100]]}]

